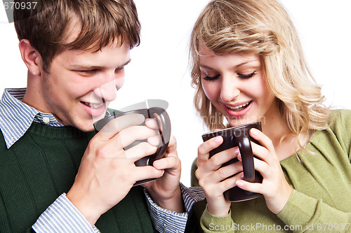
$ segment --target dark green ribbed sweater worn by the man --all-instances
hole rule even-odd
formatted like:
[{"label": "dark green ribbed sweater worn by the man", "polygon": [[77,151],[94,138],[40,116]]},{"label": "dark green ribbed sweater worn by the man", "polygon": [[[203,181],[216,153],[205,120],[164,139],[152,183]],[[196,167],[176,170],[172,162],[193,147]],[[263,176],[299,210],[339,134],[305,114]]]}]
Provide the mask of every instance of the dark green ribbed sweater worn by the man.
[{"label": "dark green ribbed sweater worn by the man", "polygon": [[[72,187],[94,132],[33,122],[7,149],[0,140],[0,232],[32,232],[37,218]],[[95,224],[101,232],[156,232],[143,188],[132,188]]]}]

